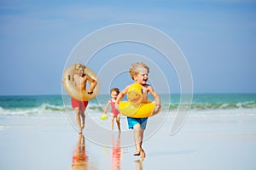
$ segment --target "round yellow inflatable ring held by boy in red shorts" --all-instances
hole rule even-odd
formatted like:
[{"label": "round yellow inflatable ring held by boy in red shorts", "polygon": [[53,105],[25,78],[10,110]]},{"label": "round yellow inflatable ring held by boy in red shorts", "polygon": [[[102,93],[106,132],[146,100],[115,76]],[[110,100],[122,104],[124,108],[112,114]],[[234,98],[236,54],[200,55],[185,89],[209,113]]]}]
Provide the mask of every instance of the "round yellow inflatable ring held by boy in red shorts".
[{"label": "round yellow inflatable ring held by boy in red shorts", "polygon": [[[98,78],[96,77],[96,73],[91,71],[90,68],[86,66],[84,69],[84,74],[88,75],[92,79],[96,81],[96,87],[93,90],[93,94],[88,94],[87,90],[79,91],[73,84],[73,75],[75,74],[74,65],[67,67],[67,69],[63,73],[63,86],[73,99],[78,99],[79,101],[89,101],[90,99],[96,98],[96,95],[99,92],[100,85]],[[92,82],[89,81],[89,86],[91,86]],[[89,87],[90,88],[90,87]]]}]

